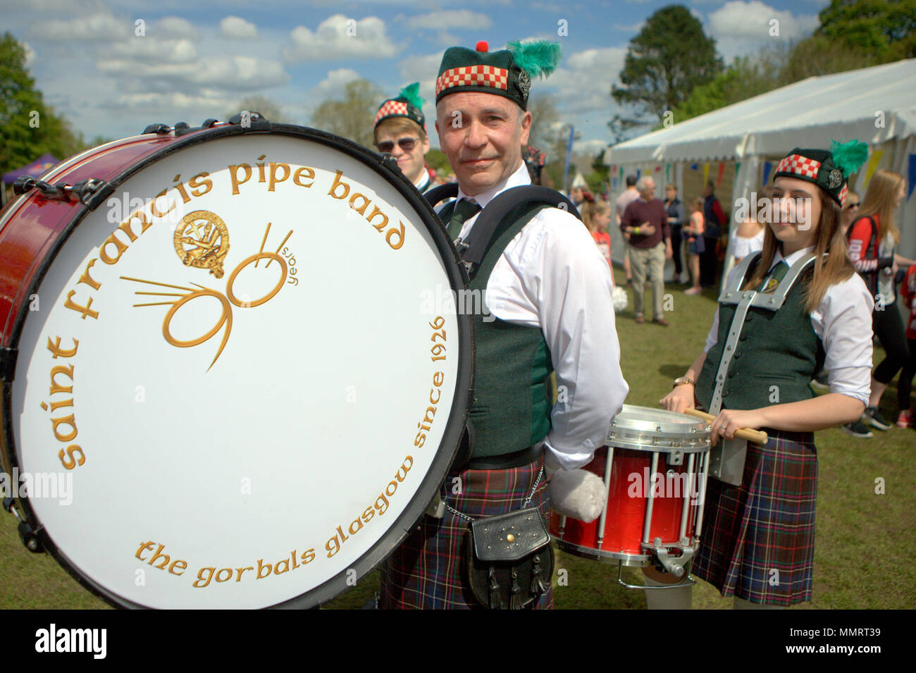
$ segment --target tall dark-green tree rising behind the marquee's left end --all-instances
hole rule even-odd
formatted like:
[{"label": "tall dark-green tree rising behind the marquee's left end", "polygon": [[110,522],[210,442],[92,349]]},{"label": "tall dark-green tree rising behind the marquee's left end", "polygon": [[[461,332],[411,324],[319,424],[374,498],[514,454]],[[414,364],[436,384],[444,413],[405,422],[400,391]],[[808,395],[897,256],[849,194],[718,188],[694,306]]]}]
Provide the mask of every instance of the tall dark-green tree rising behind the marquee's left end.
[{"label": "tall dark-green tree rising behind the marquee's left end", "polygon": [[[629,42],[620,81],[611,87],[619,104],[661,121],[667,110],[681,105],[694,87],[712,81],[722,71],[715,40],[683,5],[658,10]],[[648,121],[648,120],[647,120]]]}]

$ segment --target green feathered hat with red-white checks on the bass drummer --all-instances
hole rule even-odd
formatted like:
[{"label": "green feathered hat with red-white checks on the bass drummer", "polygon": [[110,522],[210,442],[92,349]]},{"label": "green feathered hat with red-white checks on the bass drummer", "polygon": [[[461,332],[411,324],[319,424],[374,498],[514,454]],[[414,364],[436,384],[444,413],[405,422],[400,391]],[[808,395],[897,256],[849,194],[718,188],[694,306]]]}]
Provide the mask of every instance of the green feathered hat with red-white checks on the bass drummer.
[{"label": "green feathered hat with red-white checks on the bass drummer", "polygon": [[481,92],[503,96],[527,110],[531,78],[551,74],[560,62],[560,45],[540,39],[507,46],[490,52],[486,42],[478,42],[475,50],[446,49],[436,78],[436,103],[449,93]]}]

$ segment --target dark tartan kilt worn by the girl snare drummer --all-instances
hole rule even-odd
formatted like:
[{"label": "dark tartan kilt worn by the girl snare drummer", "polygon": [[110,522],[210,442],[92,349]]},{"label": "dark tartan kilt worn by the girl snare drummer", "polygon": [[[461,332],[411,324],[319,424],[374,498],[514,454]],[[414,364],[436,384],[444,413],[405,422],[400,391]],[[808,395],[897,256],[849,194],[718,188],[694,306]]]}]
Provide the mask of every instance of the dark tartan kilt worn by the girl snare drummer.
[{"label": "dark tartan kilt worn by the girl snare drummer", "polygon": [[789,606],[811,601],[817,452],[811,432],[766,430],[740,486],[707,482],[692,572],[723,596]]}]

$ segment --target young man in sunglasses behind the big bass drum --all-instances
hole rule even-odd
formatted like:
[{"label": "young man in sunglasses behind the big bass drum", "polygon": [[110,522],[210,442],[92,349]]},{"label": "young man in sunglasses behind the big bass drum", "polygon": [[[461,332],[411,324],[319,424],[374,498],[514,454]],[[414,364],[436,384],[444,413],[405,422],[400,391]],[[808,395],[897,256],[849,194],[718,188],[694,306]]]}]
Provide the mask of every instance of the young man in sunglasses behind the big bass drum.
[{"label": "young man in sunglasses behind the big bass drum", "polygon": [[414,82],[401,89],[397,98],[381,104],[375,127],[378,151],[398,159],[398,167],[421,193],[434,186],[423,160],[430,139],[422,106],[420,82]]}]

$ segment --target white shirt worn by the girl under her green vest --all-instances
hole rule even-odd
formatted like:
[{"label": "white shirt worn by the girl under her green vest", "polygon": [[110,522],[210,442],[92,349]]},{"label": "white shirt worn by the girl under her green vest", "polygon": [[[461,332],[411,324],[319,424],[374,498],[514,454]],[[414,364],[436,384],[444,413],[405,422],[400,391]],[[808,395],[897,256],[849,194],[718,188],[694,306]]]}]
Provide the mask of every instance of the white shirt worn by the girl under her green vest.
[{"label": "white shirt worn by the girl under her green vest", "polygon": [[[813,249],[809,247],[792,253],[785,258],[786,264],[792,266]],[[777,250],[769,271],[781,260],[782,255]],[[736,271],[737,267],[728,274],[729,283]],[[827,288],[821,304],[811,314],[814,333],[823,342],[826,353],[823,367],[829,372],[830,392],[855,397],[866,405],[871,389],[871,311],[874,305],[865,281],[853,274]],[[713,328],[706,336],[705,353],[709,353],[718,341],[718,334],[719,310],[716,309]]]}]

